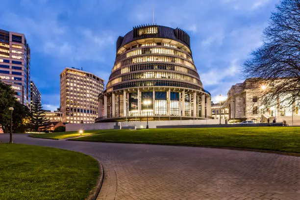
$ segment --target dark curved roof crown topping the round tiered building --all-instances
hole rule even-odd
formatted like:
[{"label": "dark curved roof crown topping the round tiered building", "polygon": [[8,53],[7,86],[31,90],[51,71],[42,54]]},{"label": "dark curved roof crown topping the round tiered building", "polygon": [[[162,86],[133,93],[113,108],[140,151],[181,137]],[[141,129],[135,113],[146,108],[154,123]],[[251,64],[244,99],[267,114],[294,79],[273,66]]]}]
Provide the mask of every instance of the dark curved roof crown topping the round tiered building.
[{"label": "dark curved roof crown topping the round tiered building", "polygon": [[[158,28],[158,32],[156,34],[143,34],[136,35],[135,30],[140,28],[147,28],[155,26]],[[187,47],[190,48],[190,36],[180,28],[171,28],[163,25],[141,25],[133,27],[133,30],[129,31],[125,34],[124,37],[119,36],[117,40],[117,51],[123,47],[125,44],[128,44],[132,41],[144,39],[144,38],[167,38],[183,43]]]}]

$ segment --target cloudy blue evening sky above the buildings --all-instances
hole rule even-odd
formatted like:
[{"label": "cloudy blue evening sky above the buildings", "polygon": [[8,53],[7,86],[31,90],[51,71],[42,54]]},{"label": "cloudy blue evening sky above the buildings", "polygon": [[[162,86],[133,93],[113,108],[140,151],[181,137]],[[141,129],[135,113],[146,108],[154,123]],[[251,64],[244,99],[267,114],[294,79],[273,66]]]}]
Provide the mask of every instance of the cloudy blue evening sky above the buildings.
[{"label": "cloudy blue evening sky above the buildings", "polygon": [[1,0],[0,29],[24,33],[31,77],[44,109],[59,107],[59,74],[83,68],[105,80],[116,40],[135,25],[180,27],[191,36],[193,59],[212,99],[243,82],[241,68],[262,43],[279,0]]}]

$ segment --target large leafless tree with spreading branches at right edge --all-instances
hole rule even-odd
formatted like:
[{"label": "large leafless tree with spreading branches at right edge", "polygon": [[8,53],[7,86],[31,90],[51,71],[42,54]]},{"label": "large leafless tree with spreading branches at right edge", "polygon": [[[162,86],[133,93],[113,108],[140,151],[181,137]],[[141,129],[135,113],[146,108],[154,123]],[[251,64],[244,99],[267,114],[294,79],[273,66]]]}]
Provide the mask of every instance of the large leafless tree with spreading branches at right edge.
[{"label": "large leafless tree with spreading branches at right edge", "polygon": [[263,32],[263,45],[251,56],[243,73],[268,85],[262,103],[299,107],[300,0],[281,0],[276,5]]}]

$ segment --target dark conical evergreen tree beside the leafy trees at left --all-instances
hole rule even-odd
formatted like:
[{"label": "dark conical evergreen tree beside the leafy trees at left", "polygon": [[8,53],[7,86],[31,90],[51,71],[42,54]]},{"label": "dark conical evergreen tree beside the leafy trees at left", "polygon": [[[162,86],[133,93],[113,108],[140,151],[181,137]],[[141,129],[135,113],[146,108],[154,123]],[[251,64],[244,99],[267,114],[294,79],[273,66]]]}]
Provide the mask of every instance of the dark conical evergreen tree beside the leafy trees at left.
[{"label": "dark conical evergreen tree beside the leafy trees at left", "polygon": [[50,120],[46,118],[45,110],[42,108],[42,104],[39,101],[34,101],[33,109],[31,110],[31,120],[32,129],[35,131],[44,131],[49,128]]}]

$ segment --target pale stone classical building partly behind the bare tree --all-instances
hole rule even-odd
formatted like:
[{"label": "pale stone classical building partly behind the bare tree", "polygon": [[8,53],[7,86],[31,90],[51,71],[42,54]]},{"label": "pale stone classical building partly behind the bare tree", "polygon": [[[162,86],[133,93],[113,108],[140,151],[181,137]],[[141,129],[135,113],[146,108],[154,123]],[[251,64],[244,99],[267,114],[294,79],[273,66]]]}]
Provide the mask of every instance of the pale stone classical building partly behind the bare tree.
[{"label": "pale stone classical building partly behind the bare tree", "polygon": [[[266,84],[257,78],[246,79],[243,83],[231,86],[227,93],[227,100],[223,108],[229,111],[229,122],[254,121],[255,123],[283,122],[288,124],[298,122],[300,124],[299,108],[293,106],[275,105],[267,107],[262,104],[261,97],[266,93],[267,87],[274,83]],[[277,100],[279,101],[279,100]],[[281,100],[280,100],[281,101]]]}]

